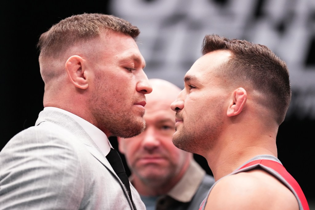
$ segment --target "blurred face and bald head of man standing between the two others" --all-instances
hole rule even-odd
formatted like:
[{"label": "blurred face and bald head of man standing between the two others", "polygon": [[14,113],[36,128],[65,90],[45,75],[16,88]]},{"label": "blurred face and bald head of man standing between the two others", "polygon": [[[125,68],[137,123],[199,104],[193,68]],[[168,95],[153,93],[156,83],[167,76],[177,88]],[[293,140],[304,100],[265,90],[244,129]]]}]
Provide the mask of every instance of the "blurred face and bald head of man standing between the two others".
[{"label": "blurred face and bald head of man standing between the two others", "polygon": [[192,154],[172,143],[175,112],[170,104],[180,89],[162,79],[149,80],[153,91],[146,96],[146,129],[133,138],[118,138],[133,174],[133,185],[141,195],[167,193],[186,172]]}]

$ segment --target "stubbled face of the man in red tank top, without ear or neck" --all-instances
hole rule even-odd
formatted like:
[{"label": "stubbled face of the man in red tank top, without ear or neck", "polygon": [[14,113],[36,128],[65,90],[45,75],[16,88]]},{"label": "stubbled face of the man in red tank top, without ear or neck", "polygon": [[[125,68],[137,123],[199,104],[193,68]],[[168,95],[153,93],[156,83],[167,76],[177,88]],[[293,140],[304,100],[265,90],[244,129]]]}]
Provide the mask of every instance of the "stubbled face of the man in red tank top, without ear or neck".
[{"label": "stubbled face of the man in red tank top, without ear or neck", "polygon": [[227,60],[228,51],[203,55],[185,75],[185,88],[171,104],[176,111],[173,143],[188,152],[203,155],[214,146],[222,131],[225,103],[229,93],[226,81],[215,76],[215,69]]}]

